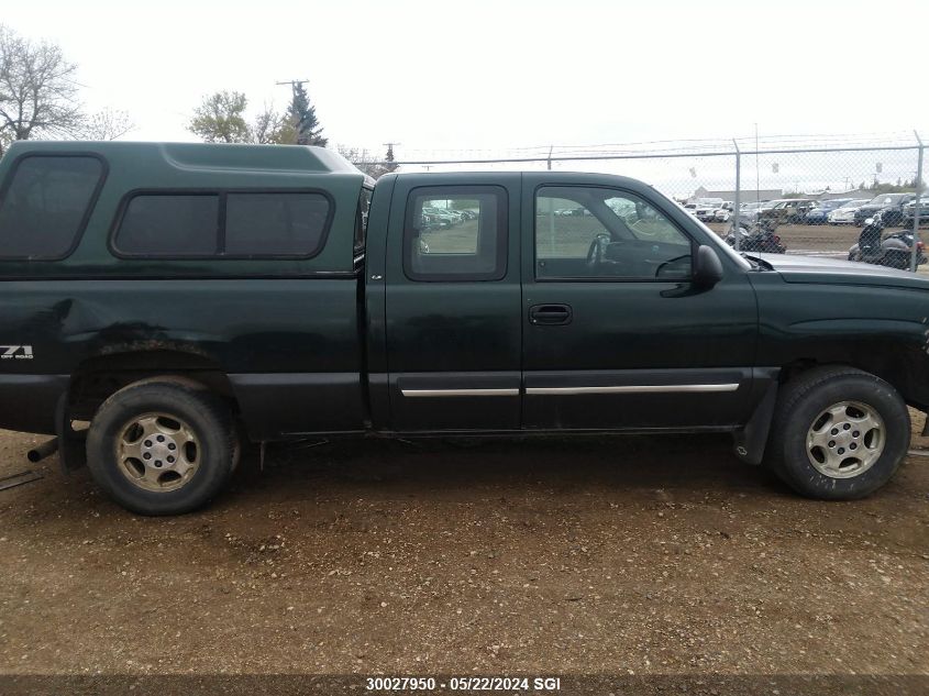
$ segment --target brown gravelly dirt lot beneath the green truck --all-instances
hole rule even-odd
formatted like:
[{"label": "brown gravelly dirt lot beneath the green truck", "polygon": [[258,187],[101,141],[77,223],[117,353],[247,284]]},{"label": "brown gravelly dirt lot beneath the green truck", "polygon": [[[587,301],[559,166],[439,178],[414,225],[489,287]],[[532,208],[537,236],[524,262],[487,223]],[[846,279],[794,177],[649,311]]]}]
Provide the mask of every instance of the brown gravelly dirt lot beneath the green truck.
[{"label": "brown gravelly dirt lot beneath the green truck", "polygon": [[0,491],[0,673],[929,674],[929,459],[823,504],[729,446],[333,442],[174,519],[53,457]]}]

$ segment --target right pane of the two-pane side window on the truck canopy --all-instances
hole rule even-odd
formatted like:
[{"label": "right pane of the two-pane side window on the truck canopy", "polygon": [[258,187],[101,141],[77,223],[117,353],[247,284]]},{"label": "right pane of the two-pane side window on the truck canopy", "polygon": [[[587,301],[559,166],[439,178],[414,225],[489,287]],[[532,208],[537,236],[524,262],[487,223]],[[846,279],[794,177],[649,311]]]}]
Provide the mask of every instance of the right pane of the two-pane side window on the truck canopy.
[{"label": "right pane of the two-pane side window on the truck canopy", "polygon": [[322,242],[329,201],[321,194],[229,194],[225,253],[310,256]]}]

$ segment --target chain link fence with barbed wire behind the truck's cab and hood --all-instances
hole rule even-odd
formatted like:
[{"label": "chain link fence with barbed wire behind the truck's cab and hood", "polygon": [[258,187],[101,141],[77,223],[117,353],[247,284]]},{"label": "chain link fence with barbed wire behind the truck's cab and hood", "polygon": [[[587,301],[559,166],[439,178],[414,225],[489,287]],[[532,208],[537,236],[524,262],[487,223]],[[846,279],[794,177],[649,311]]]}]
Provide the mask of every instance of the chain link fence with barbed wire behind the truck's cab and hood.
[{"label": "chain link fence with barbed wire behind the truck's cab and hood", "polygon": [[[729,141],[397,153],[402,172],[552,169],[621,174],[670,196],[733,246],[916,270],[929,225],[919,135],[767,136]],[[855,256],[865,220],[884,243]],[[734,234],[738,224],[744,232]],[[771,246],[753,235],[771,233]],[[889,240],[889,241],[888,241]],[[887,253],[893,251],[893,253]],[[927,269],[927,266],[922,266]]]}]

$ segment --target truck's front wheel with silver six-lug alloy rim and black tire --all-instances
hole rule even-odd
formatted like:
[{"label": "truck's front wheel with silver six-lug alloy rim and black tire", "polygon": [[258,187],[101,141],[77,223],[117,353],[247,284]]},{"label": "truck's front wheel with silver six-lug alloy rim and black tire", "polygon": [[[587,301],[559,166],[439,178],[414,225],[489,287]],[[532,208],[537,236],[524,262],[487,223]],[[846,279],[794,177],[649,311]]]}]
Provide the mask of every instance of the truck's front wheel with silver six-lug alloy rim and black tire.
[{"label": "truck's front wheel with silver six-lug alloy rim and black tire", "polygon": [[[849,406],[843,408],[843,404]],[[827,416],[830,408],[840,416],[836,411]],[[862,413],[871,420],[862,419]],[[845,423],[851,427],[845,429]],[[893,386],[853,367],[817,367],[782,387],[765,463],[803,496],[854,500],[891,479],[909,441],[909,412]],[[849,449],[852,444],[854,452]],[[842,450],[848,459],[842,460]],[[836,468],[838,460],[842,462]]]}]

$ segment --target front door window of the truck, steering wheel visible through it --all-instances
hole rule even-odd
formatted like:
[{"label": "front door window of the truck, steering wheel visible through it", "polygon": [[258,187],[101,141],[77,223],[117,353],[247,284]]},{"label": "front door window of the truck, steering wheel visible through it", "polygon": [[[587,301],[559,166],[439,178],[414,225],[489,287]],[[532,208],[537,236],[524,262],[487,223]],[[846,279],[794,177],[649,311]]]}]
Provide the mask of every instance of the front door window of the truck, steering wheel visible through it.
[{"label": "front door window of the truck, steering wheel visible through it", "polygon": [[689,276],[689,237],[644,199],[605,188],[539,189],[535,277],[681,279]]}]

